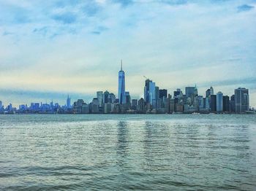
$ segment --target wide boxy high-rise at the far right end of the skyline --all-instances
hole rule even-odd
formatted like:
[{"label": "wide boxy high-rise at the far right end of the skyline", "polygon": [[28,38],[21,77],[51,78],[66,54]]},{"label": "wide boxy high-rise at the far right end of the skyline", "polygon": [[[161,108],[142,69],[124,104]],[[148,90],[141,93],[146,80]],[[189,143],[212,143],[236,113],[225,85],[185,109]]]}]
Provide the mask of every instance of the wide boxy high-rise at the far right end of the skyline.
[{"label": "wide boxy high-rise at the far right end of the skyline", "polygon": [[243,113],[249,110],[249,92],[244,87],[235,90],[236,113]]}]

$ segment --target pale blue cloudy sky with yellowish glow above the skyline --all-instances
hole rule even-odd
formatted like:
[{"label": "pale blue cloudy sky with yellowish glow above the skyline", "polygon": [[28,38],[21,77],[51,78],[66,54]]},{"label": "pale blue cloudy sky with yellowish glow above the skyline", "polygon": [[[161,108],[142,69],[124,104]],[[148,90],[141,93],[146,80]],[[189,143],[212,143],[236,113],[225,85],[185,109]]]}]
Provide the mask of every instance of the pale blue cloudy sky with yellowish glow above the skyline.
[{"label": "pale blue cloudy sky with yellowish glow above the skyline", "polygon": [[0,0],[0,100],[86,102],[146,76],[173,94],[249,89],[256,107],[256,0]]}]

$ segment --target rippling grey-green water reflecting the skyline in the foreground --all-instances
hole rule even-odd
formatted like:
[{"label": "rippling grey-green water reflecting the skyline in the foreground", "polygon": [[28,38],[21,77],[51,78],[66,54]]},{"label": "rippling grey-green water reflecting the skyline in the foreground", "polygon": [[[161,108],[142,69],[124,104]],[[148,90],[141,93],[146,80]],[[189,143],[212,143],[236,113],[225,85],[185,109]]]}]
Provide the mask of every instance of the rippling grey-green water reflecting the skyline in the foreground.
[{"label": "rippling grey-green water reflecting the skyline in the foreground", "polygon": [[0,115],[0,190],[256,190],[256,115]]}]

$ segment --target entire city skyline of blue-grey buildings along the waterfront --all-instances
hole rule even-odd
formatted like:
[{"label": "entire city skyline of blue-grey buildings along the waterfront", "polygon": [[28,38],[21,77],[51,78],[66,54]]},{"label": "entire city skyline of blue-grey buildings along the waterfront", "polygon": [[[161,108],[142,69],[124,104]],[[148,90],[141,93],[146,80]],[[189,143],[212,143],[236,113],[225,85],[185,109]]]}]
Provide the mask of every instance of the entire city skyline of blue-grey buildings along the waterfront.
[{"label": "entire city skyline of blue-grey buildings along the waterfront", "polygon": [[249,108],[249,90],[238,87],[234,95],[214,94],[214,88],[206,90],[206,95],[198,95],[195,87],[185,87],[185,92],[177,89],[173,95],[165,89],[159,89],[151,79],[145,81],[144,98],[131,99],[129,91],[125,90],[125,75],[122,69],[118,72],[118,97],[106,90],[97,91],[91,103],[78,99],[71,104],[67,97],[64,106],[59,104],[31,103],[30,106],[20,105],[18,109],[12,104],[4,107],[0,101],[0,114],[191,114],[191,113],[255,113]]}]

